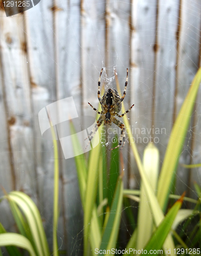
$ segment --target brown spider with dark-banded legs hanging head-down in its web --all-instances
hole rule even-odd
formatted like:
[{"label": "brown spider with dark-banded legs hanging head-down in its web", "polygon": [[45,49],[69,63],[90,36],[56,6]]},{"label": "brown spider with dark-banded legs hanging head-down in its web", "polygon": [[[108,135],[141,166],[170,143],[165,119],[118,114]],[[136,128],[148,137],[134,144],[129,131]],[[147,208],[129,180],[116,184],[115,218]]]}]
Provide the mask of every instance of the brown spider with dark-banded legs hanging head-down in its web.
[{"label": "brown spider with dark-banded legs hanging head-down in its web", "polygon": [[[98,120],[97,120],[96,124],[94,125],[92,131],[90,132],[89,136],[86,138],[86,139],[89,138],[89,142],[88,142],[87,146],[89,145],[90,141],[92,140],[93,136],[95,135],[95,133],[97,132],[98,128],[101,126],[103,121],[104,121],[104,124],[109,124],[109,125],[111,125],[112,122],[113,122],[114,124],[119,126],[119,128],[121,129],[121,136],[120,136],[119,144],[117,146],[115,146],[114,148],[111,148],[110,150],[114,150],[115,148],[121,146],[122,140],[123,140],[122,147],[120,148],[120,150],[121,150],[123,148],[123,146],[125,145],[125,125],[121,121],[116,119],[115,116],[118,116],[118,117],[124,116],[134,106],[134,104],[133,104],[131,106],[131,108],[129,110],[125,111],[125,113],[123,113],[122,115],[118,114],[121,111],[121,102],[125,98],[125,91],[127,90],[128,73],[129,72],[128,72],[128,69],[127,69],[127,79],[125,80],[125,87],[124,87],[122,97],[119,96],[119,94],[117,93],[116,90],[113,90],[113,89],[110,88],[104,93],[103,97],[101,98],[101,96],[100,96],[100,94],[101,94],[100,87],[101,87],[102,72],[103,72],[103,69],[101,70],[101,74],[100,74],[99,79],[98,79],[98,92],[97,92],[98,100],[101,103],[102,112],[97,111],[88,102],[88,104],[91,106],[91,108],[93,110],[95,110],[100,115],[100,117],[98,118]],[[87,148],[87,146],[86,146],[86,148]]]}]

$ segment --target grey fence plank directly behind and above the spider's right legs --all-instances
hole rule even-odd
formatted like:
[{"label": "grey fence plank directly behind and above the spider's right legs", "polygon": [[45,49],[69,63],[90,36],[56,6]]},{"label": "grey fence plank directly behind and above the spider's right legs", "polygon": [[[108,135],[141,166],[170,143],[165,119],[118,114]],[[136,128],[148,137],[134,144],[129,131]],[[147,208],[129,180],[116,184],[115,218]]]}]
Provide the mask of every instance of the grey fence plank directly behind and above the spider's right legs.
[{"label": "grey fence plank directly behind and above the spider's right legs", "polygon": [[[121,94],[123,94],[125,79],[127,77],[127,68],[129,68],[129,51],[130,51],[130,0],[119,2],[119,1],[109,1],[107,3],[108,11],[108,67],[106,67],[107,74],[109,77],[114,78],[114,68],[118,76],[119,86],[121,89]],[[111,82],[112,81],[112,82]],[[106,89],[112,87],[116,89],[115,80],[111,80],[106,83]],[[129,95],[131,92],[131,80],[130,80],[130,69],[129,69],[129,80],[127,87],[127,95],[125,96],[123,102],[125,108],[128,109]],[[130,107],[129,107],[130,108]],[[120,112],[122,113],[122,112]],[[122,121],[122,118],[118,118]],[[118,130],[118,139],[120,136],[120,129],[112,124],[115,129]],[[109,134],[108,134],[109,135]],[[111,141],[115,138],[115,134],[110,134],[109,136],[109,148],[112,146]],[[125,144],[123,150],[121,151],[124,156],[124,172],[125,177],[127,177],[128,170],[128,143]],[[126,182],[126,178],[124,179]]]}]

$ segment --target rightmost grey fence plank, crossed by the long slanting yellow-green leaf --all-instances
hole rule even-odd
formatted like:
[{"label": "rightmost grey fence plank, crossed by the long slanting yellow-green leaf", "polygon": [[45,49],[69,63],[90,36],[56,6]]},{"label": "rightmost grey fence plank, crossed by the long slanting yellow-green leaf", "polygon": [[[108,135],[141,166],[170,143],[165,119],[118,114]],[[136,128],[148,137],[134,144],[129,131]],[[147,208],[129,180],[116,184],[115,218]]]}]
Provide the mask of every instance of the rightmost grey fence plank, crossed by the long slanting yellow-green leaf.
[{"label": "rightmost grey fence plank, crossed by the long slanting yellow-green leaf", "polygon": [[[189,4],[191,9],[189,10]],[[199,1],[184,1],[181,8],[181,34],[179,41],[179,57],[178,57],[178,90],[175,95],[176,109],[178,113],[183,99],[185,98],[191,81],[199,67],[200,59],[200,2]],[[193,39],[193,40],[192,40]],[[195,108],[199,108],[200,94],[196,100]],[[195,136],[194,132],[199,129],[196,119],[199,117],[199,112],[194,112],[191,119],[187,138],[184,143],[183,152],[180,157],[180,163],[194,163],[195,159],[192,154],[199,152],[199,136]],[[194,137],[194,142],[192,138]],[[199,154],[199,153],[198,153]],[[197,158],[198,162],[201,159]],[[195,176],[196,173],[196,176]],[[188,196],[196,198],[193,182],[200,183],[200,169],[187,169],[179,166],[177,175],[177,191],[187,190]],[[195,179],[196,177],[196,179]]]}]

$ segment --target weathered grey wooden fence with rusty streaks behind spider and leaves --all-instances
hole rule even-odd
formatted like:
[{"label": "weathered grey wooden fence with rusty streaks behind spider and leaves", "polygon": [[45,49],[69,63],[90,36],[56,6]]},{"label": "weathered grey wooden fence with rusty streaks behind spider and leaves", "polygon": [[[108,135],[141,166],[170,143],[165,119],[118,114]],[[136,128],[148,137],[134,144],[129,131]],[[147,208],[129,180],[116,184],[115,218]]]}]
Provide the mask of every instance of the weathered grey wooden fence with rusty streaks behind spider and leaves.
[{"label": "weathered grey wooden fence with rusty streaks behind spider and leaves", "polygon": [[[115,69],[121,91],[128,67],[125,107],[135,104],[129,118],[140,156],[153,136],[150,129],[159,128],[153,137],[159,138],[162,161],[173,122],[200,66],[200,13],[199,0],[41,0],[13,17],[0,12],[0,183],[7,191],[24,191],[37,203],[50,245],[54,155],[51,139],[41,137],[39,111],[72,96],[86,126],[84,116],[96,114],[87,102],[98,106],[102,67],[102,87],[116,88]],[[199,91],[180,163],[201,162],[200,97]],[[124,184],[138,187],[140,177],[128,144],[122,153]],[[59,246],[68,255],[82,255],[76,167],[73,158],[65,160],[61,146],[59,157]],[[179,166],[175,191],[188,189],[195,196],[193,181],[201,183],[200,172]],[[7,204],[1,204],[0,221],[12,230],[8,212]]]}]

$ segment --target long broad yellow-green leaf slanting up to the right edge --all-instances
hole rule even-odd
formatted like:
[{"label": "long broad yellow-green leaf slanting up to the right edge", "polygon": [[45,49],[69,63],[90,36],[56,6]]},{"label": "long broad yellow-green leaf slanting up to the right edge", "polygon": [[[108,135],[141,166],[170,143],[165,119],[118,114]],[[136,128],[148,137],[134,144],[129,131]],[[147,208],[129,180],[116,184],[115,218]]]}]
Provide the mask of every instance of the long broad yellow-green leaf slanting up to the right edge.
[{"label": "long broad yellow-green leaf slanting up to the right edge", "polygon": [[163,210],[166,209],[172,180],[177,170],[179,157],[182,152],[192,111],[196,102],[200,81],[201,68],[199,68],[192,81],[191,87],[170,134],[158,184],[158,200]]}]

